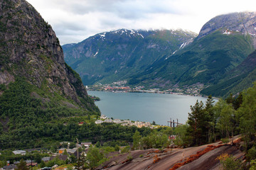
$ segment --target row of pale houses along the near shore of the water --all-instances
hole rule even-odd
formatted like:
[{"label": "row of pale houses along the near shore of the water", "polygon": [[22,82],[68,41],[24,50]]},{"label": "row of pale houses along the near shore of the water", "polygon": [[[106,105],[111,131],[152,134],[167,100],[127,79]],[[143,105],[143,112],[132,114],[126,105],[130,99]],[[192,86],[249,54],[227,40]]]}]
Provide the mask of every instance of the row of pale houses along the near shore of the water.
[{"label": "row of pale houses along the near shore of the water", "polygon": [[118,123],[121,124],[123,126],[137,126],[138,128],[142,128],[142,127],[149,127],[149,128],[154,128],[153,125],[151,125],[149,122],[132,122],[131,120],[120,120],[120,119],[110,119],[107,118],[106,115],[101,115],[99,120],[95,121],[96,124],[101,124],[101,123]]}]

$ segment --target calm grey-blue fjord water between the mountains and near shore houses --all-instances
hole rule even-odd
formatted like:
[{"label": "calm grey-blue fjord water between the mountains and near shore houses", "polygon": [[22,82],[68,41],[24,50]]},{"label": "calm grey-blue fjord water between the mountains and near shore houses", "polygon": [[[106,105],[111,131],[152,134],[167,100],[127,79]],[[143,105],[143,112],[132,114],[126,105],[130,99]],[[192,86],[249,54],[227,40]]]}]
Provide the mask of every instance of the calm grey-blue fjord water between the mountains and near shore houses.
[{"label": "calm grey-blue fjord water between the mountains and near shore houses", "polygon": [[112,93],[107,91],[87,91],[89,95],[100,97],[95,104],[108,118],[139,120],[158,125],[167,125],[170,118],[178,118],[178,123],[186,123],[190,106],[196,100],[206,102],[207,98],[174,94]]}]

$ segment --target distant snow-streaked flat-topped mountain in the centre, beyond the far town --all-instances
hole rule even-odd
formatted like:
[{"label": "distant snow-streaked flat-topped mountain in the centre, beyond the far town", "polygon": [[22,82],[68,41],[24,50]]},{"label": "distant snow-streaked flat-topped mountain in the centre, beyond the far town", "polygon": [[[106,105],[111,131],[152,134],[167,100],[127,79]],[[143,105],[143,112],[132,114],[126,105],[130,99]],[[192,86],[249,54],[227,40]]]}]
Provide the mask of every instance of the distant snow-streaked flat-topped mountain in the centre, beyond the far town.
[{"label": "distant snow-streaked flat-topped mountain in the centre, beyond the far town", "polygon": [[143,72],[195,37],[195,33],[185,30],[120,29],[63,45],[63,51],[65,61],[80,74],[84,84],[110,83]]}]

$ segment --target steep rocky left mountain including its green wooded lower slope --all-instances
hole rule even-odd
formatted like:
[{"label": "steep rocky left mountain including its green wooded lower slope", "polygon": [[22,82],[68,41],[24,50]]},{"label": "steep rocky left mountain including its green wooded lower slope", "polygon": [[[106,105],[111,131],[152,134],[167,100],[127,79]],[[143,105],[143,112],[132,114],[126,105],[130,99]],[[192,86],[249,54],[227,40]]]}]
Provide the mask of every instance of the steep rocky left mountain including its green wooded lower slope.
[{"label": "steep rocky left mountain including its green wooded lower slope", "polygon": [[0,1],[0,69],[2,149],[34,145],[55,120],[100,115],[53,29],[25,0]]}]

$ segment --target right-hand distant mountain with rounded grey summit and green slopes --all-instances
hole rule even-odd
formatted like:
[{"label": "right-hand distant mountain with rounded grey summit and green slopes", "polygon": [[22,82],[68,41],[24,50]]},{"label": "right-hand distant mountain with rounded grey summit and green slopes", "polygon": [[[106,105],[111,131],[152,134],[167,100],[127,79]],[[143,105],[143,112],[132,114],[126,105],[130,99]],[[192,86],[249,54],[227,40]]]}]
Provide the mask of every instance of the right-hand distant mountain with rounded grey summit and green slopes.
[{"label": "right-hand distant mountain with rounded grey summit and green slopes", "polygon": [[218,84],[255,50],[255,16],[247,12],[216,16],[190,45],[134,75],[129,83],[166,88]]}]

